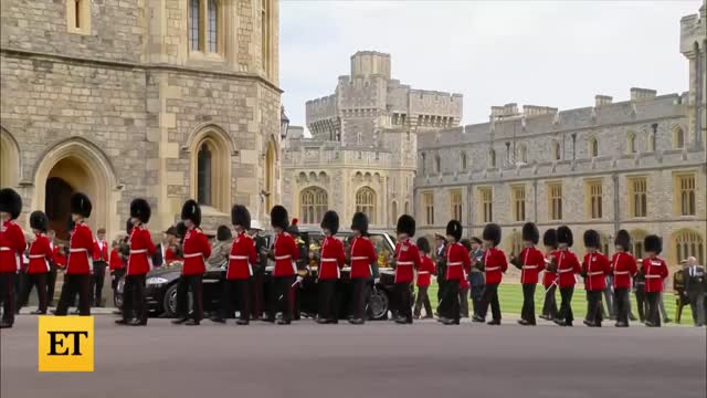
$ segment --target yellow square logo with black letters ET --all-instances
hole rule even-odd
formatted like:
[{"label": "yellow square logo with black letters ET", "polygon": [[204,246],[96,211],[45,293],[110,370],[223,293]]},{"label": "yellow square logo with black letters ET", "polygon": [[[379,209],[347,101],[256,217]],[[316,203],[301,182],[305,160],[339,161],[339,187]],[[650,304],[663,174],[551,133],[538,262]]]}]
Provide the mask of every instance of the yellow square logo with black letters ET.
[{"label": "yellow square logo with black letters ET", "polygon": [[93,316],[40,316],[39,371],[93,371]]}]

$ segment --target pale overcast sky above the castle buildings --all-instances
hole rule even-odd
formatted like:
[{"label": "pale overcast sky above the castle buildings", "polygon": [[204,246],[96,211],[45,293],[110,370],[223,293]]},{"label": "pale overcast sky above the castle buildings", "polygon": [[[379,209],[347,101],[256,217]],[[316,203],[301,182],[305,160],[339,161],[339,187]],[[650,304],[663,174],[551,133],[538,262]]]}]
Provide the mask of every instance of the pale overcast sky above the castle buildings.
[{"label": "pale overcast sky above the castle buildings", "polygon": [[464,124],[492,105],[591,106],[629,88],[687,91],[679,21],[701,1],[281,0],[281,86],[293,125],[334,93],[359,50],[391,54],[392,76],[464,95]]}]

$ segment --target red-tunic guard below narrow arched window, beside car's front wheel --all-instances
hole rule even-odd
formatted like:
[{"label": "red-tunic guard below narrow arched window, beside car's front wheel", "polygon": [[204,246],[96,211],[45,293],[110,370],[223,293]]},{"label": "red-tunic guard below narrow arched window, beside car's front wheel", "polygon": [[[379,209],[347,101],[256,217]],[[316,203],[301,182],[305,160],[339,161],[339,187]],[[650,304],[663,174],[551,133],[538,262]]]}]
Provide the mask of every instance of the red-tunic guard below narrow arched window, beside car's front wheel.
[{"label": "red-tunic guard below narrow arched window, beside car's front wheel", "polygon": [[[187,228],[182,250],[184,263],[177,283],[177,320],[173,324],[199,325],[203,318],[203,274],[207,272],[207,259],[211,255],[209,239],[201,228],[201,207],[196,200],[189,199],[181,208],[181,220]],[[192,314],[189,320],[189,296],[191,290],[193,297]]]}]

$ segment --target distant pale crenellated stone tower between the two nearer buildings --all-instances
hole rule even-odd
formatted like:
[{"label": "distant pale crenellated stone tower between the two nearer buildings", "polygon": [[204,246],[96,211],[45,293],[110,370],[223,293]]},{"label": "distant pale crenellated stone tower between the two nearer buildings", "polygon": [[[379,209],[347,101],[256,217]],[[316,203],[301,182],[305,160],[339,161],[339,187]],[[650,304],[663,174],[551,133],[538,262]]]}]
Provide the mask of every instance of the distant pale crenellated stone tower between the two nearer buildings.
[{"label": "distant pale crenellated stone tower between the two nearer buildings", "polygon": [[391,78],[389,54],[357,52],[335,94],[307,102],[312,137],[291,128],[283,143],[283,203],[305,224],[331,209],[345,227],[363,211],[392,229],[412,213],[418,134],[461,116],[460,94],[411,88]]}]

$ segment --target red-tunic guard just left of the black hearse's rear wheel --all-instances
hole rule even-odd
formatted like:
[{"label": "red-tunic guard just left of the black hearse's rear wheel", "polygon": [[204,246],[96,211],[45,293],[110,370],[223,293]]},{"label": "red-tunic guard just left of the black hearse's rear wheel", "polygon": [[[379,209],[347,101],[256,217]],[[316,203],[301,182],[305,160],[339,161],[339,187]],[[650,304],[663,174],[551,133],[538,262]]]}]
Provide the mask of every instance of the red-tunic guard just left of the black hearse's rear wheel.
[{"label": "red-tunic guard just left of the black hearse's rear wheel", "polygon": [[351,220],[351,318],[349,323],[362,325],[366,318],[366,303],[370,295],[371,277],[378,276],[378,254],[368,238],[368,217],[356,212]]}]

